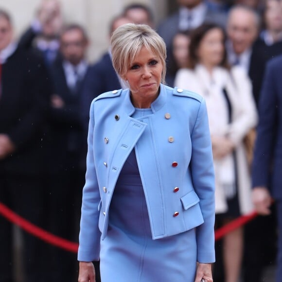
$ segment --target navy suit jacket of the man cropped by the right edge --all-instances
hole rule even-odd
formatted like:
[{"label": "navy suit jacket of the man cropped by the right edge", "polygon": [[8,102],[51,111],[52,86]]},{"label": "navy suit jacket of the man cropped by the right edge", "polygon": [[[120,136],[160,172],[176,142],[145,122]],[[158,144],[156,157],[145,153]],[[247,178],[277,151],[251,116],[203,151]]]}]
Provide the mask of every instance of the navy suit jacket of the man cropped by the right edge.
[{"label": "navy suit jacket of the man cropped by the right edge", "polygon": [[259,103],[252,185],[270,187],[282,198],[282,56],[267,64]]}]

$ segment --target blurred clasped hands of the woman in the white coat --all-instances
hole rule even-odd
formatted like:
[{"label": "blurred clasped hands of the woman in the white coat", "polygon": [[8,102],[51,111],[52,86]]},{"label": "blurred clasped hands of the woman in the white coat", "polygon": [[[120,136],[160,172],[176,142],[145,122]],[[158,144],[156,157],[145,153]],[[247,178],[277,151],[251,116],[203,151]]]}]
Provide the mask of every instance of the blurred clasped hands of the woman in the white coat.
[{"label": "blurred clasped hands of the woman in the white coat", "polygon": [[233,142],[226,137],[212,136],[212,155],[214,159],[222,159],[234,149]]}]

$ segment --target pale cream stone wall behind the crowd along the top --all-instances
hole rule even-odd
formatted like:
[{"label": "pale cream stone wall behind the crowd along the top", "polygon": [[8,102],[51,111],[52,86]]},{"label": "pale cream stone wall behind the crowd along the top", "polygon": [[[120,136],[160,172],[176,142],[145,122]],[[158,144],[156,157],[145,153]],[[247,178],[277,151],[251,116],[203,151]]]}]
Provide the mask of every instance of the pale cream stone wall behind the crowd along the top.
[{"label": "pale cream stone wall behind the crowd along the top", "polygon": [[[0,8],[7,10],[14,22],[18,37],[34,18],[41,0],[1,0]],[[129,3],[140,2],[152,8],[156,23],[166,15],[166,0],[60,0],[67,23],[82,24],[88,31],[90,46],[88,57],[96,61],[108,47],[109,23]]]}]

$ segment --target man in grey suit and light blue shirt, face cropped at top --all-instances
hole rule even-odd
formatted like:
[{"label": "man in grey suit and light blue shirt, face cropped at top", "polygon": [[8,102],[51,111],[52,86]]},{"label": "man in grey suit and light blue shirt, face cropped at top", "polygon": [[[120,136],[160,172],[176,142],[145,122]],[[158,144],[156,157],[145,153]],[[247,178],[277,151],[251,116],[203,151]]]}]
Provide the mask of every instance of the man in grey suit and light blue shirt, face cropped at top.
[{"label": "man in grey suit and light blue shirt, face cropped at top", "polygon": [[210,10],[204,0],[177,0],[177,2],[178,11],[158,27],[158,33],[165,41],[168,54],[171,54],[173,37],[178,31],[193,30],[204,22],[217,23],[222,27],[226,25],[226,14]]}]

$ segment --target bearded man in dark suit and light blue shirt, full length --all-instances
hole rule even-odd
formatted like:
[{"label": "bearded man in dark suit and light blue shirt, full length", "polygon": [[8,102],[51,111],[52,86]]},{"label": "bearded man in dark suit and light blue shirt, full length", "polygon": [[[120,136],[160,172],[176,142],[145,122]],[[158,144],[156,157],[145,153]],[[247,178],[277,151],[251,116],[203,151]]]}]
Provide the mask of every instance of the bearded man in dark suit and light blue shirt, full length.
[{"label": "bearded man in dark suit and light blue shirt, full length", "polygon": [[[84,28],[77,24],[66,26],[60,35],[60,53],[50,67],[49,230],[71,241],[78,241],[86,171],[87,137],[81,106],[89,71],[87,47]],[[49,281],[76,281],[76,255],[55,247],[50,252]]]}]

